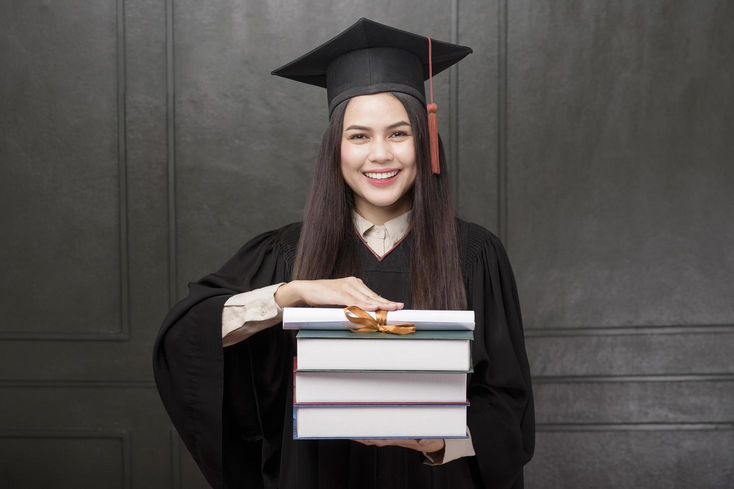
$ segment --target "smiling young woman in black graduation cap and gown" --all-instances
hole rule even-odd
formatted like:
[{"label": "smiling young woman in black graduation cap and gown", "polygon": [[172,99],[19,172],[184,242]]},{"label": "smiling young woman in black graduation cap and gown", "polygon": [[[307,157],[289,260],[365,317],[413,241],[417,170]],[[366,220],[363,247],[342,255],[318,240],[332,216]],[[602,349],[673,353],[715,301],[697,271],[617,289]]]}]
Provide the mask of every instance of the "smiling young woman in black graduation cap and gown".
[{"label": "smiling young woman in black graduation cap and gown", "polygon": [[[523,487],[534,411],[515,279],[500,240],[454,216],[424,95],[432,71],[470,52],[360,19],[274,72],[330,102],[303,221],[189,283],[153,353],[161,399],[215,488]],[[351,305],[475,312],[470,438],[293,439],[282,308]]]}]

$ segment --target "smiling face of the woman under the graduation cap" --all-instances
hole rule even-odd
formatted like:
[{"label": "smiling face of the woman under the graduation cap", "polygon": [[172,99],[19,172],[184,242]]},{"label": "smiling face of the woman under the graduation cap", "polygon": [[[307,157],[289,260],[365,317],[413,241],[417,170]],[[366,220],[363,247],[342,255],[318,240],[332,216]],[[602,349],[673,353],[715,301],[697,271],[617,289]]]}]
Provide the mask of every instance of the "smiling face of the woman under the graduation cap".
[{"label": "smiling face of the woman under the graduation cap", "polygon": [[[341,134],[341,173],[365,207],[404,207],[415,183],[415,147],[403,104],[388,93],[349,100]],[[403,198],[404,197],[404,198]]]}]

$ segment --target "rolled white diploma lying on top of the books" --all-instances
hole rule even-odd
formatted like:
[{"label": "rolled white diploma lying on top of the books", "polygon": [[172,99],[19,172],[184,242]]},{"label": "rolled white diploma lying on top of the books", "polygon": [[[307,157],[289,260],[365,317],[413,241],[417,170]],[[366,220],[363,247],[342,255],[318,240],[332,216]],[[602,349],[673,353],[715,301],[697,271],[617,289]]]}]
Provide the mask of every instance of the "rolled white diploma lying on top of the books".
[{"label": "rolled white diploma lying on top of the books", "polygon": [[[374,319],[374,311],[366,311]],[[351,313],[349,313],[351,314]],[[355,316],[356,317],[356,316]],[[388,311],[388,324],[415,324],[415,331],[474,330],[473,311],[430,311],[401,309]],[[338,329],[344,325],[361,326],[349,321],[343,308],[333,307],[284,307],[283,329]]]}]

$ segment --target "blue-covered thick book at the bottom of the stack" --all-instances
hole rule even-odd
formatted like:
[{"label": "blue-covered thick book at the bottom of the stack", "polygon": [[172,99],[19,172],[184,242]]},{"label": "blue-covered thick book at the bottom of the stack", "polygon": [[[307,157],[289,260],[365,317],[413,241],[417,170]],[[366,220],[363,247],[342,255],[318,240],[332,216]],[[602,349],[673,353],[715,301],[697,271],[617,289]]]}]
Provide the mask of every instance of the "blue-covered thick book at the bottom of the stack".
[{"label": "blue-covered thick book at the bottom of the stack", "polygon": [[467,405],[294,405],[293,438],[468,438]]}]

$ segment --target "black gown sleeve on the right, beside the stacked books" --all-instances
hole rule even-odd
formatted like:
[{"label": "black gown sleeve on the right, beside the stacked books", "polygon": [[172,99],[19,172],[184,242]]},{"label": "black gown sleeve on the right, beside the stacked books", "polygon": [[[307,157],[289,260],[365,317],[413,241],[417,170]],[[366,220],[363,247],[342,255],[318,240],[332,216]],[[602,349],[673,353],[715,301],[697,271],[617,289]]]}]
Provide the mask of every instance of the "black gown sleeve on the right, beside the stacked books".
[{"label": "black gown sleeve on the right, beside the stacked books", "polygon": [[501,241],[472,226],[468,301],[476,329],[467,420],[476,468],[487,488],[522,488],[523,466],[534,451],[535,416],[520,301]]}]

